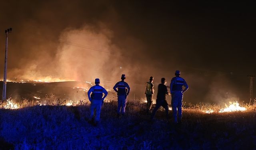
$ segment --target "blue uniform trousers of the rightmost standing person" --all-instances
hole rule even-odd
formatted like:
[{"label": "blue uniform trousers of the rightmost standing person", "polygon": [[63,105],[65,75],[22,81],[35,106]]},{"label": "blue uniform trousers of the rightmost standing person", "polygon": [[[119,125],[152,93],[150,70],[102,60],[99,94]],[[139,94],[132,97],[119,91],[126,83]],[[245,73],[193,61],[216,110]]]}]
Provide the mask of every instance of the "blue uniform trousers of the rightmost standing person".
[{"label": "blue uniform trousers of the rightmost standing person", "polygon": [[[174,122],[180,122],[182,118],[182,91],[174,91],[172,93],[172,113]],[[177,108],[178,108],[178,120],[177,120]]]}]

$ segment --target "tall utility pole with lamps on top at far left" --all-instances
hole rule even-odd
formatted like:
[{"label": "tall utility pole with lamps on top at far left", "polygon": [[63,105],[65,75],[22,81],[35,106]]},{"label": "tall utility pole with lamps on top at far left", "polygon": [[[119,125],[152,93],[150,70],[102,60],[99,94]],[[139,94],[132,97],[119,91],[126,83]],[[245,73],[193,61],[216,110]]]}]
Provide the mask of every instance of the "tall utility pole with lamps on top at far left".
[{"label": "tall utility pole with lamps on top at far left", "polygon": [[2,101],[4,102],[6,100],[6,74],[7,74],[7,52],[8,52],[8,34],[12,32],[12,28],[6,29],[6,42],[5,42],[5,57],[4,57],[4,81],[3,81],[3,93],[2,93]]}]

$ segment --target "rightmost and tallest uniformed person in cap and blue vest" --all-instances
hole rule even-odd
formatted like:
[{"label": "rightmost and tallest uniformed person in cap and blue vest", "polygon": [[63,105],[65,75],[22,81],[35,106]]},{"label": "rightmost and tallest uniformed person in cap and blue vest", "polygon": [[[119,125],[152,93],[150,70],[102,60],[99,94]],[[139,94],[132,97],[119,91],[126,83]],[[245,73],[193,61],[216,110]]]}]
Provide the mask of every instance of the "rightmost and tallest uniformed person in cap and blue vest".
[{"label": "rightmost and tallest uniformed person in cap and blue vest", "polygon": [[[184,90],[182,87],[185,87]],[[188,90],[188,84],[183,78],[180,77],[180,71],[176,70],[175,77],[172,78],[170,83],[170,92],[172,94],[172,114],[173,114],[175,123],[181,123],[182,98],[186,90]],[[177,108],[178,108],[178,116],[177,116]]]}]

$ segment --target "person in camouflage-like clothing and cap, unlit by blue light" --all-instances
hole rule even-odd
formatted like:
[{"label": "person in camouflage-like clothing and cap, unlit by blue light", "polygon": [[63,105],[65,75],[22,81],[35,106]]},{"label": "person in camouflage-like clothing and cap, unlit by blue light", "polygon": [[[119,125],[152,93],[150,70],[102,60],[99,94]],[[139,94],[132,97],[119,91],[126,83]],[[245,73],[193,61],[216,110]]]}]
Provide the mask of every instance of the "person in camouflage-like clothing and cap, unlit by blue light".
[{"label": "person in camouflage-like clothing and cap, unlit by blue light", "polygon": [[147,98],[147,114],[149,113],[152,104],[153,104],[153,95],[154,95],[154,84],[153,84],[154,78],[150,76],[149,82],[146,82],[146,98]]}]

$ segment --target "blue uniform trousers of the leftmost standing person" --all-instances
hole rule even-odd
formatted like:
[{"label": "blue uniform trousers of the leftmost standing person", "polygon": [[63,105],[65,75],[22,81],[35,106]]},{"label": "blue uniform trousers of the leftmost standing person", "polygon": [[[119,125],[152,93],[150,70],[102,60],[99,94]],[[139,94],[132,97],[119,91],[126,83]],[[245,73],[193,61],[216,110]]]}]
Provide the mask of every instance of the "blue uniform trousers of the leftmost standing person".
[{"label": "blue uniform trousers of the leftmost standing person", "polygon": [[94,110],[96,110],[95,121],[100,121],[100,110],[101,110],[102,100],[92,100],[90,106],[90,118],[94,116]]}]

